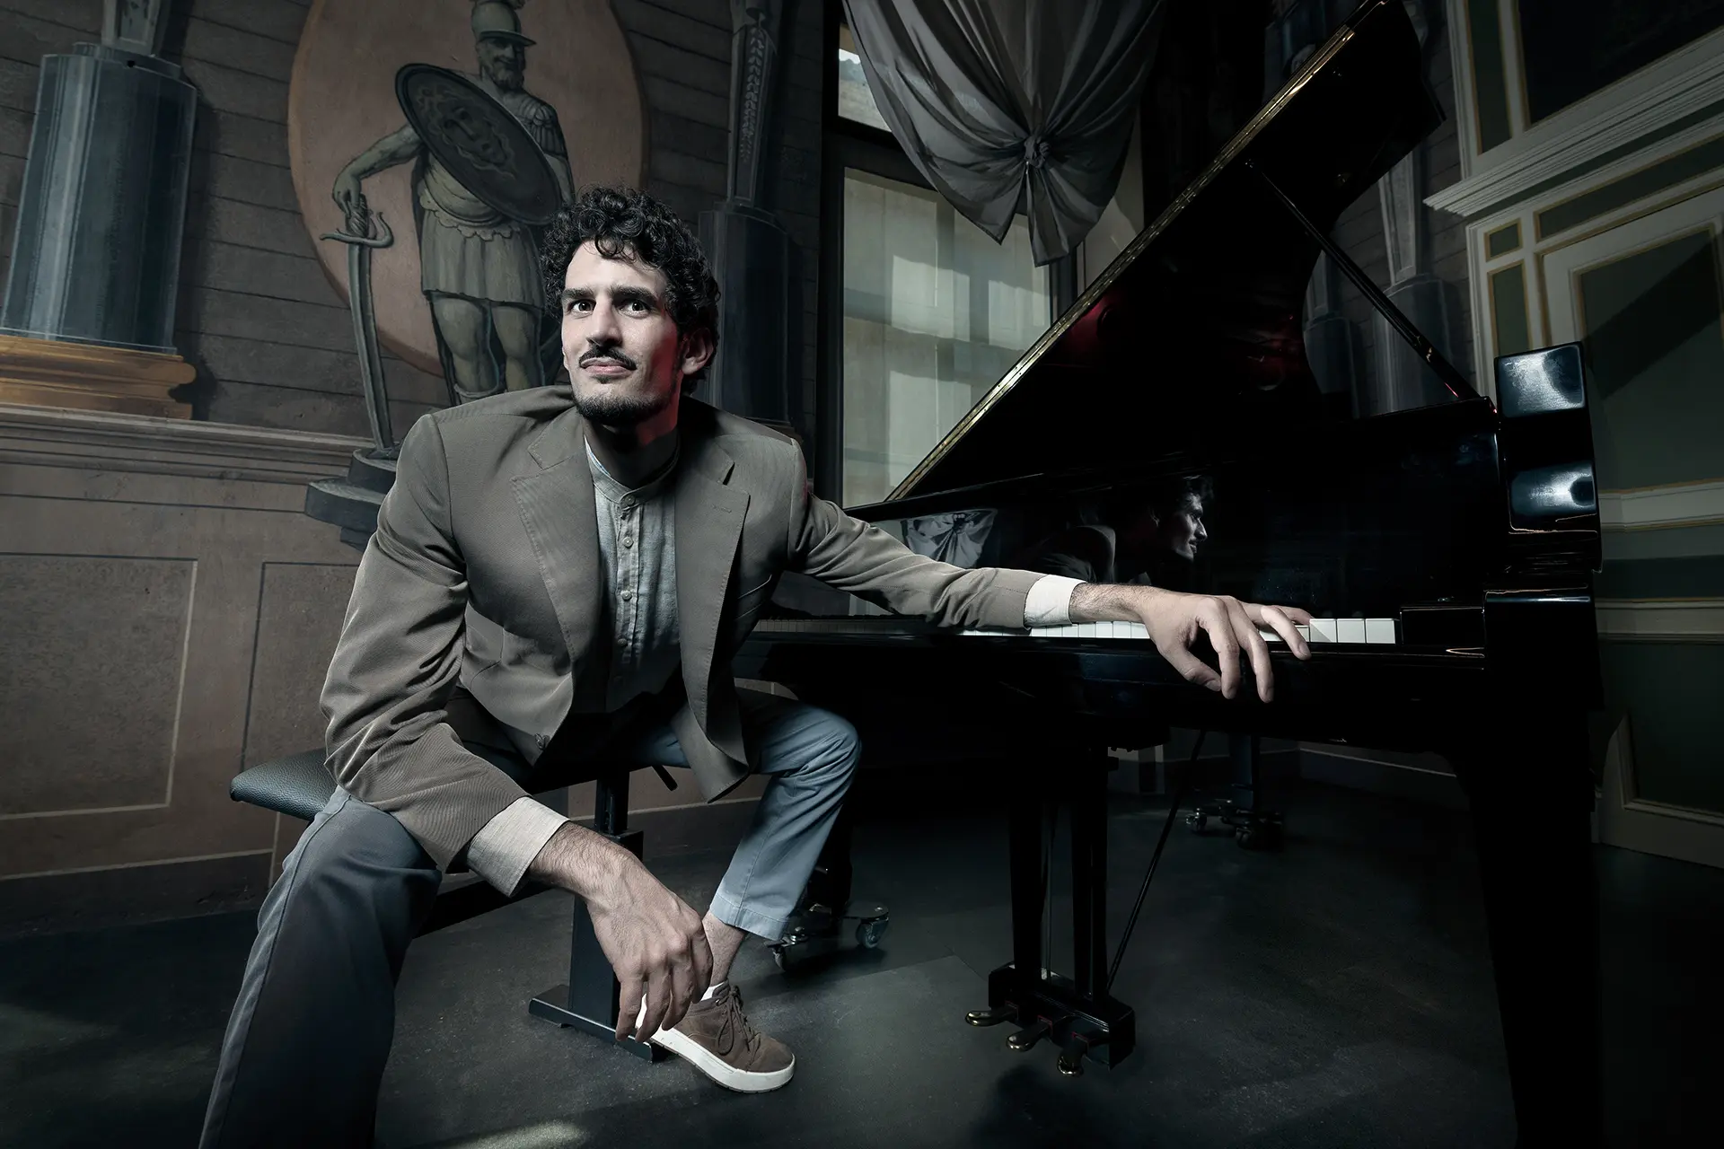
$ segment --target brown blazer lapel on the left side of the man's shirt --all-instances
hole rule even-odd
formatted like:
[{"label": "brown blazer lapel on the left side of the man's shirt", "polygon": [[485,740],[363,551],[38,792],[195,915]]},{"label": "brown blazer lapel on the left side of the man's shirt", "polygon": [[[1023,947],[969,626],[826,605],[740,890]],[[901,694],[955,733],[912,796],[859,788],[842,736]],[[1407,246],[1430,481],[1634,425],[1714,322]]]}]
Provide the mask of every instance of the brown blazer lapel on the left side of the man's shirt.
[{"label": "brown blazer lapel on the left side of the man's shirt", "polygon": [[540,577],[557,612],[574,674],[590,661],[600,624],[598,524],[586,434],[571,407],[533,441],[540,469],[514,479]]}]

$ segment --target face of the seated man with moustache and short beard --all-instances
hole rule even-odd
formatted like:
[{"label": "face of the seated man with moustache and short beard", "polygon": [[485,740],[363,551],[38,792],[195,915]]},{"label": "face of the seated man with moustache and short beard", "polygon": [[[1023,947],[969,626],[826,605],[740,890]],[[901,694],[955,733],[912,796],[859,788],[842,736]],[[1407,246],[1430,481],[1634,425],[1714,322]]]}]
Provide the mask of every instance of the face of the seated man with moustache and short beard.
[{"label": "face of the seated man with moustache and short beard", "polygon": [[678,401],[683,376],[712,357],[700,334],[683,339],[657,267],[605,258],[583,243],[562,277],[562,362],[574,405],[609,427],[631,427]]}]

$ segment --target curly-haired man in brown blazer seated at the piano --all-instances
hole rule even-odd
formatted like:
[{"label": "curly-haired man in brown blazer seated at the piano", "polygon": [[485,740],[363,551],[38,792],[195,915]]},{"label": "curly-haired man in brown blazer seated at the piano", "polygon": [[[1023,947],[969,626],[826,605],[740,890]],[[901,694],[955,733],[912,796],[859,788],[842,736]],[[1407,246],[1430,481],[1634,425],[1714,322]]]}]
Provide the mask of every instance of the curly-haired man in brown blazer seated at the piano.
[{"label": "curly-haired man in brown blazer seated at the piano", "polygon": [[[796,444],[691,398],[717,284],[664,205],[598,188],[553,222],[547,296],[571,388],[434,412],[407,434],[322,705],[340,787],[283,865],[228,1027],[205,1146],[367,1144],[393,987],[441,873],[586,899],[617,1035],[738,1090],[795,1058],[726,982],[778,939],[857,761],[840,717],[740,691],[729,661],[784,570],[948,625],[1143,620],[1193,680],[1269,696],[1303,612],[962,570],[809,491]],[[1221,672],[1186,646],[1198,629]],[[771,782],[705,916],[626,849],[534,803],[593,761],[688,765],[707,799]],[[510,767],[510,763],[521,763]]]}]

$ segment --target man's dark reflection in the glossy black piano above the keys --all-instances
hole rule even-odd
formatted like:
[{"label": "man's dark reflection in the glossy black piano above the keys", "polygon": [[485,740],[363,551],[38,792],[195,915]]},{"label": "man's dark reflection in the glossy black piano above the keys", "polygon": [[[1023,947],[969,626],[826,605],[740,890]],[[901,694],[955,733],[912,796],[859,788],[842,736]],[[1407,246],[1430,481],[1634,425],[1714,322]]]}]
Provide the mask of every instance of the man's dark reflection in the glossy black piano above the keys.
[{"label": "man's dark reflection in the glossy black piano above the keys", "polygon": [[1026,570],[1084,582],[1126,582],[1174,591],[1191,587],[1191,565],[1209,539],[1207,475],[1164,479],[1102,500],[1098,522],[1052,534],[1017,558]]}]

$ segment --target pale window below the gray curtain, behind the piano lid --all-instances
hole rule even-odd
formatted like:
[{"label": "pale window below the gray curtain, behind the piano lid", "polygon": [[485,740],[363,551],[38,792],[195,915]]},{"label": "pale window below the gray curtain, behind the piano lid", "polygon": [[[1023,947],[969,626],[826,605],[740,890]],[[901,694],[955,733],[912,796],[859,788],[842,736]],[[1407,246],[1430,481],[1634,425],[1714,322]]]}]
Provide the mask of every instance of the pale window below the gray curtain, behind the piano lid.
[{"label": "pale window below the gray curtain, behind the piano lid", "polygon": [[915,172],[838,22],[826,138],[821,462],[845,506],[876,503],[1053,320],[1019,217],[1002,243]]}]

